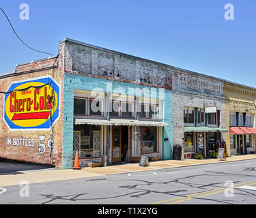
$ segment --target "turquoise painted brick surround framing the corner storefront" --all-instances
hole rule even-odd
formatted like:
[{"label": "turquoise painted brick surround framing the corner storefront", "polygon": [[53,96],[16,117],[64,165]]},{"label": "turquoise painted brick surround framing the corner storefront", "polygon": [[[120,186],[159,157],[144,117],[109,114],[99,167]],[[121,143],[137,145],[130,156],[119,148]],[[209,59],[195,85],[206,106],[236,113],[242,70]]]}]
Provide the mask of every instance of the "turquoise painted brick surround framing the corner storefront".
[{"label": "turquoise painted brick surround framing the corner storefront", "polygon": [[[118,89],[119,88],[119,89]],[[122,88],[122,90],[120,90]],[[77,76],[73,74],[64,74],[63,88],[63,168],[72,168],[72,152],[73,152],[73,123],[74,123],[74,89],[79,90],[95,90],[113,93],[126,94],[129,89],[150,88],[150,96],[156,99],[165,99],[163,111],[163,121],[169,124],[169,127],[162,128],[162,157],[164,159],[172,159],[173,154],[173,124],[172,124],[172,91],[164,89],[155,89],[151,87],[143,87],[136,84],[124,82],[113,82],[110,80],[89,78],[86,76]],[[134,92],[134,96],[139,96],[139,91]],[[164,142],[163,138],[169,138]]]}]

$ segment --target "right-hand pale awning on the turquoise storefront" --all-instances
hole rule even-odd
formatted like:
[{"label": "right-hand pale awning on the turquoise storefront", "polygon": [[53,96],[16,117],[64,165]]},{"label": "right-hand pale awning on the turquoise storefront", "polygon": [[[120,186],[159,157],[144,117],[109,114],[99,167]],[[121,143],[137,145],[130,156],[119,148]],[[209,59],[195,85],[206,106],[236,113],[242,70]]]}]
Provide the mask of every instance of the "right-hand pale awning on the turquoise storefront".
[{"label": "right-hand pale awning on the turquoise storefront", "polygon": [[168,123],[163,123],[160,121],[138,121],[138,120],[128,120],[128,119],[111,119],[114,125],[137,125],[137,126],[151,126],[151,127],[167,127]]}]

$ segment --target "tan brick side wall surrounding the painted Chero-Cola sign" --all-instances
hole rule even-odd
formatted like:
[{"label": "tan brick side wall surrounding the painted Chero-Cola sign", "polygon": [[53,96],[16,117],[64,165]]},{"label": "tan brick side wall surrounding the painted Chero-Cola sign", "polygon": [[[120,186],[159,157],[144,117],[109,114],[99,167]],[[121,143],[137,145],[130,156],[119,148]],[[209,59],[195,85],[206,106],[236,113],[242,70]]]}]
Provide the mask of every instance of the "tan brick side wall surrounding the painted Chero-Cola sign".
[{"label": "tan brick side wall surrounding the painted Chero-Cola sign", "polygon": [[[50,61],[53,65],[52,61]],[[27,72],[27,70],[30,70],[31,65],[23,65],[23,69],[20,71]],[[39,68],[38,68],[39,69]],[[59,75],[58,69],[53,70],[43,70],[40,72],[30,73],[30,74],[17,74],[17,76],[12,76],[8,78],[1,78],[0,79],[0,90],[1,91],[7,91],[10,87],[10,84],[12,82],[18,82],[22,80],[29,80],[33,78],[38,77],[44,77],[44,76],[51,76],[59,83],[59,89],[60,89],[60,96],[61,94],[61,76]],[[6,123],[3,121],[3,105],[4,105],[4,95],[0,94],[0,157],[5,159],[14,159],[18,161],[25,161],[25,162],[31,162],[31,163],[42,163],[49,165],[49,151],[47,146],[47,141],[50,139],[51,131],[11,131],[6,125]],[[63,96],[61,96],[60,101],[63,99]],[[61,103],[61,102],[60,102]],[[62,103],[60,104],[60,113],[59,113],[59,119],[55,122],[53,125],[53,140],[54,140],[54,147],[52,152],[52,161],[53,165],[55,165],[58,168],[61,168],[62,166],[62,114],[61,110],[63,109]],[[42,141],[46,146],[46,152],[44,155],[40,155],[39,153],[39,135],[45,136],[45,140]],[[7,138],[31,138],[34,140],[34,146],[14,146],[14,145],[6,145]]]}]

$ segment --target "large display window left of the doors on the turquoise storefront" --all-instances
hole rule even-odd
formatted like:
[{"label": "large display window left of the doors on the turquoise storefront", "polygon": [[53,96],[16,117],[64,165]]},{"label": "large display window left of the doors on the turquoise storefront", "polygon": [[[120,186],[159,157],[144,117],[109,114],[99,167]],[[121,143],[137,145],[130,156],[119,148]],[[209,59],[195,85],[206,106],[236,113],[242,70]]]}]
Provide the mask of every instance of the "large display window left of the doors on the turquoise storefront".
[{"label": "large display window left of the doors on the turquoise storefront", "polygon": [[81,158],[100,157],[102,155],[102,131],[100,125],[74,125],[74,131],[80,131],[80,142],[76,149]]}]

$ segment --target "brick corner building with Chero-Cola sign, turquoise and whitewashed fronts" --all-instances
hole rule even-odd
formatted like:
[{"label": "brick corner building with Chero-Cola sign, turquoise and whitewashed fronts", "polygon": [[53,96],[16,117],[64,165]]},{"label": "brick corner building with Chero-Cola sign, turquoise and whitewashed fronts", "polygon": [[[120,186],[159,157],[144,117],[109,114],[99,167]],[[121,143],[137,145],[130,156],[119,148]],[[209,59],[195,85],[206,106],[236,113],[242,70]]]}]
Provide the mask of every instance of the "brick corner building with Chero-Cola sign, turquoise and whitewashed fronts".
[{"label": "brick corner building with Chero-Cola sign, turquoise and whitewashed fronts", "polygon": [[225,82],[66,39],[0,76],[0,157],[72,168],[76,150],[87,166],[172,159],[174,144],[210,157],[227,140]]}]

